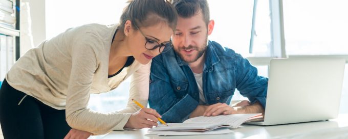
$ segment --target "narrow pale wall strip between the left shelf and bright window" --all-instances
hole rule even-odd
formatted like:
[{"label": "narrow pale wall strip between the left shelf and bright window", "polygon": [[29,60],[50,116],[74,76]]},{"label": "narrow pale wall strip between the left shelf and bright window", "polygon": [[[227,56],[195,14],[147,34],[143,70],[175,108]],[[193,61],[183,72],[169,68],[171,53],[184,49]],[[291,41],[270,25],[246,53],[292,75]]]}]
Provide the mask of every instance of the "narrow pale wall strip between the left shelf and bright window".
[{"label": "narrow pale wall strip between the left shelf and bright window", "polygon": [[21,2],[29,2],[33,42],[36,47],[46,40],[45,0],[21,0]]}]

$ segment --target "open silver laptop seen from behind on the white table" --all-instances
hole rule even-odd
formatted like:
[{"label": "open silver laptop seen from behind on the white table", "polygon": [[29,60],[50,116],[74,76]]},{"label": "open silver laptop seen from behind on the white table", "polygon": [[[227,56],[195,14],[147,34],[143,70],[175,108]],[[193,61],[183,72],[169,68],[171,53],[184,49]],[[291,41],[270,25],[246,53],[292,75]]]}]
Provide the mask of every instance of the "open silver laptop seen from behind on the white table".
[{"label": "open silver laptop seen from behind on the white table", "polygon": [[273,59],[264,121],[278,125],[335,119],[342,93],[344,58]]}]

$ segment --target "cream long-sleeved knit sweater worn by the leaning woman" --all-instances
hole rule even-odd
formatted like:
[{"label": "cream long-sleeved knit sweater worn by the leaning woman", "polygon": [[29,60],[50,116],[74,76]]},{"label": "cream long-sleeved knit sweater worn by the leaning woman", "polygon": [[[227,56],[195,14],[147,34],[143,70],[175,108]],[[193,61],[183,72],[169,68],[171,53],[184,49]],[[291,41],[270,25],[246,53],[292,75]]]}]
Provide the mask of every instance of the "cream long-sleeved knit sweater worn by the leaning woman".
[{"label": "cream long-sleeved knit sweater worn by the leaning woman", "polygon": [[[66,109],[66,120],[72,128],[94,134],[123,130],[131,113],[139,110],[130,99],[147,105],[150,63],[134,61],[108,78],[108,56],[116,29],[117,25],[101,24],[69,29],[30,49],[13,65],[6,80],[13,88],[53,108]],[[91,93],[113,90],[130,75],[125,109],[104,114],[87,108]]]}]

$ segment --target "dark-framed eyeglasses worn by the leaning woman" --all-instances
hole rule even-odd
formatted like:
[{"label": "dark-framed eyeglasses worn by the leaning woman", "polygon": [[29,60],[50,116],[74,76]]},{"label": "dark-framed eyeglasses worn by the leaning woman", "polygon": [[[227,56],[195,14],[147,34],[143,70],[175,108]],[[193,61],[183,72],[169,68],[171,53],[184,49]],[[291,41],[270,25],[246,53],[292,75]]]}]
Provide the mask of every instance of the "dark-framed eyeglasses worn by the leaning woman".
[{"label": "dark-framed eyeglasses worn by the leaning woman", "polygon": [[151,39],[147,38],[144,35],[144,33],[139,29],[139,27],[137,25],[134,25],[134,26],[137,27],[137,29],[140,31],[140,33],[145,37],[145,40],[146,40],[145,48],[146,49],[148,49],[148,50],[155,50],[158,47],[160,47],[159,52],[162,53],[162,52],[167,52],[172,47],[171,39],[166,44],[163,44],[163,43],[159,44],[157,41],[154,41],[154,40],[151,40]]}]

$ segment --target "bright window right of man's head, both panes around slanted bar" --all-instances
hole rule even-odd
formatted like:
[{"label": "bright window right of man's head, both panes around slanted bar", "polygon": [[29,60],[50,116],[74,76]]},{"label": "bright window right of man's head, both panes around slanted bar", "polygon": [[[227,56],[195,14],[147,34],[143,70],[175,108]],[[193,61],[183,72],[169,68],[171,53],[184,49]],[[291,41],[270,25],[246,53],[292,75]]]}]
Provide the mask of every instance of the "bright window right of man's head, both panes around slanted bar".
[{"label": "bright window right of man's head, both panes around slanted bar", "polygon": [[208,0],[210,18],[215,21],[210,40],[229,47],[244,57],[270,57],[270,10],[268,1],[256,5],[253,53],[249,53],[254,1]]}]

